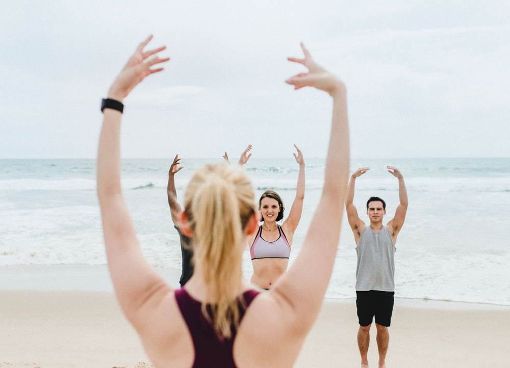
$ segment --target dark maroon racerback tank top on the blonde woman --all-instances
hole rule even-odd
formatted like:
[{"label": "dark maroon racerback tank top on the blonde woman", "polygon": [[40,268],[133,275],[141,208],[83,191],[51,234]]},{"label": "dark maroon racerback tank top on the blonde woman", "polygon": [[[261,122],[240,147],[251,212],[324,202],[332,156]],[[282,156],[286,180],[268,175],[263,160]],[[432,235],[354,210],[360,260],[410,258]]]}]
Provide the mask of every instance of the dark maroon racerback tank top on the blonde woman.
[{"label": "dark maroon racerback tank top on the blonde woman", "polygon": [[[246,308],[257,295],[259,295],[259,292],[255,290],[244,292],[243,298]],[[193,299],[184,288],[175,290],[175,299],[193,339],[193,346],[195,348],[193,367],[217,366],[235,368],[233,352],[234,338],[237,332],[235,327],[232,326],[231,338],[224,338],[223,341],[220,341],[211,323],[203,316],[202,306],[198,300]],[[211,315],[211,307],[209,305],[207,310]],[[245,310],[241,303],[239,303],[239,323],[241,323],[244,317]]]}]

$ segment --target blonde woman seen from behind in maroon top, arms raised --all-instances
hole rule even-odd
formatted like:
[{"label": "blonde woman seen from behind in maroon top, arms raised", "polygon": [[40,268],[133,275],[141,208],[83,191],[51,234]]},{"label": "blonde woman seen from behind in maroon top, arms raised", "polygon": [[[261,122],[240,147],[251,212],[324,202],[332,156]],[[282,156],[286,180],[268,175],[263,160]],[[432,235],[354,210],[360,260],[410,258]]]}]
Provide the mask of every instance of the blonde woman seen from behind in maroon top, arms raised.
[{"label": "blonde woman seen from behind in maroon top, arms raised", "polygon": [[[138,46],[101,105],[97,196],[122,312],[156,368],[292,366],[319,314],[338,249],[349,176],[345,85],[318,65],[303,44],[304,57],[288,59],[307,69],[287,79],[288,84],[295,90],[314,87],[333,102],[324,187],[289,270],[265,293],[244,282],[246,241],[257,232],[261,216],[243,169],[221,162],[198,169],[186,187],[179,228],[191,239],[194,272],[184,288],[174,290],[143,257],[120,183],[122,101],[169,60],[158,56],[165,47],[144,50],[151,38]],[[317,131],[326,129],[314,124]]]}]

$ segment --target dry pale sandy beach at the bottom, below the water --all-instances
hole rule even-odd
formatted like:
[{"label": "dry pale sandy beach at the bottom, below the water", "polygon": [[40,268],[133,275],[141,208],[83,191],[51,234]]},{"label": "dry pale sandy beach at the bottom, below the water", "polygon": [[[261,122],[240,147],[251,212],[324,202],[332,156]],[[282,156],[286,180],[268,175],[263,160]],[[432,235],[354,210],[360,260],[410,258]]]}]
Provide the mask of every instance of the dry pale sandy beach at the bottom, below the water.
[{"label": "dry pale sandy beach at the bottom, below the water", "polygon": [[[111,292],[0,291],[0,300],[2,368],[151,366]],[[508,328],[508,307],[396,299],[388,367],[505,366]],[[326,299],[294,366],[359,366],[357,330],[354,299]],[[369,361],[377,366],[375,331]]]}]

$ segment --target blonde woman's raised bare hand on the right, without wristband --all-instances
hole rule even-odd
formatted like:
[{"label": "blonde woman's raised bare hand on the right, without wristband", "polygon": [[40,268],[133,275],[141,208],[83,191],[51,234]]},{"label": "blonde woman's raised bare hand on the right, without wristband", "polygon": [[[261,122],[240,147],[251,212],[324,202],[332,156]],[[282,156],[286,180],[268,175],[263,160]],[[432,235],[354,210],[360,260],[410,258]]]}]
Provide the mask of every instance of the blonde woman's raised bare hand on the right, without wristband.
[{"label": "blonde woman's raised bare hand on the right, without wristband", "polygon": [[285,82],[292,84],[295,90],[303,87],[315,87],[318,90],[325,91],[333,96],[336,91],[345,90],[345,86],[340,79],[331,74],[326,69],[317,64],[310,55],[310,52],[301,42],[301,48],[304,53],[304,59],[287,58],[287,60],[299,63],[308,68],[308,73],[296,74]]}]

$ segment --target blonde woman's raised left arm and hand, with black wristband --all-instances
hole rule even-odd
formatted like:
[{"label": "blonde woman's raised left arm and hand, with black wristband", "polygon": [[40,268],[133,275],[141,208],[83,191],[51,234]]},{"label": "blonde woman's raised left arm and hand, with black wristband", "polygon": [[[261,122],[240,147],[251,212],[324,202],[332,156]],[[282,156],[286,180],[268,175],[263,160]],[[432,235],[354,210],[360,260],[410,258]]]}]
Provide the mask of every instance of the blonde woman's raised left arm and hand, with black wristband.
[{"label": "blonde woman's raised left arm and hand, with black wristband", "polygon": [[[152,66],[168,61],[151,55],[165,49],[143,51],[152,36],[142,42],[114,80],[108,98],[122,102],[147,75],[163,68]],[[97,196],[103,220],[108,267],[120,306],[136,327],[136,317],[148,297],[154,298],[165,282],[145,261],[136,238],[135,228],[122,196],[120,186],[120,121],[121,112],[104,109],[103,127],[97,154]]]}]

